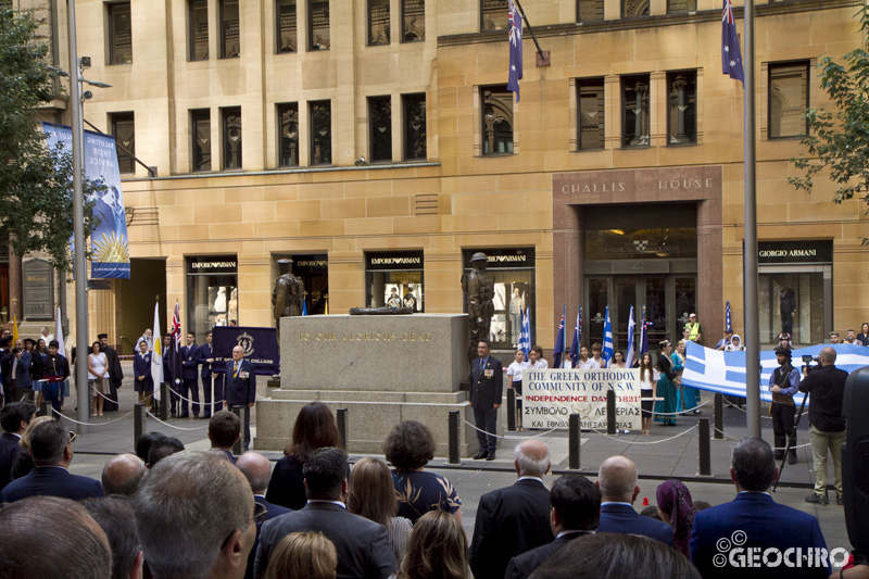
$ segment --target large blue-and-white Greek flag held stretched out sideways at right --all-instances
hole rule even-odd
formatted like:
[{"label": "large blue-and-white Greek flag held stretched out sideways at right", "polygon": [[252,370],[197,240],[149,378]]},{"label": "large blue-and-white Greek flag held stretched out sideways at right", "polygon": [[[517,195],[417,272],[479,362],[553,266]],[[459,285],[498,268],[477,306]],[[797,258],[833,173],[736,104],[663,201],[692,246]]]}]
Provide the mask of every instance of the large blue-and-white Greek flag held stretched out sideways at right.
[{"label": "large blue-and-white Greek flag held stretched out sideways at right", "polygon": [[[811,355],[817,357],[821,349],[833,348],[836,353],[835,367],[852,373],[864,366],[869,366],[869,348],[847,343],[818,344],[801,348],[792,352],[791,363],[801,368],[802,357]],[[685,345],[685,369],[682,373],[682,386],[693,386],[702,390],[721,392],[731,397],[745,398],[745,352],[722,352],[704,348],[694,342]],[[776,352],[760,352],[760,400],[769,402],[772,397],[769,392],[769,377],[779,367]],[[803,394],[794,397],[797,405],[803,402]]]}]

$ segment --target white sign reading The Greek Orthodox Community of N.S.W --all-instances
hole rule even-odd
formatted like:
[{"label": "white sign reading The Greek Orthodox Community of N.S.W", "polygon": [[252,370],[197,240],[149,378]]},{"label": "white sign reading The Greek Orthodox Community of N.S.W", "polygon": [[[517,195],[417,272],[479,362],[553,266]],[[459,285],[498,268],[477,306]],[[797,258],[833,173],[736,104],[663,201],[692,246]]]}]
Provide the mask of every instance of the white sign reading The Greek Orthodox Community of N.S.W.
[{"label": "white sign reading The Greek Orthodox Community of N.S.W", "polygon": [[640,370],[624,368],[525,370],[522,423],[531,428],[606,429],[606,392],[616,392],[616,429],[640,430]]}]

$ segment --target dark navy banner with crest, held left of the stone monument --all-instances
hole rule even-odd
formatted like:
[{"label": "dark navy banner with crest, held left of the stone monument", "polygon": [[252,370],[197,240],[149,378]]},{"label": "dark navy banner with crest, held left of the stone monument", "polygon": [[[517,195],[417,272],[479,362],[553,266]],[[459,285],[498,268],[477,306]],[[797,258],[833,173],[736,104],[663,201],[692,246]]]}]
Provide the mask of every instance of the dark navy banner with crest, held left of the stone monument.
[{"label": "dark navy banner with crest, held left of the stone monument", "polygon": [[260,376],[273,376],[280,370],[280,349],[275,328],[215,326],[211,337],[216,373],[226,370],[226,363],[232,360],[232,349],[237,345],[244,350],[244,357]]}]

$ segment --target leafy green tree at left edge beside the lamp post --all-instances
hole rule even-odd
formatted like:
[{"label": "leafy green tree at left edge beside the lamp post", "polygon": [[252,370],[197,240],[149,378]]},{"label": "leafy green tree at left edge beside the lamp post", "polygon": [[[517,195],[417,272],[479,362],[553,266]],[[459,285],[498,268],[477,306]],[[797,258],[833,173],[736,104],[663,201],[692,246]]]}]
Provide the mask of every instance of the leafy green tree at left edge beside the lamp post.
[{"label": "leafy green tree at left edge beside the lamp post", "polygon": [[[48,48],[35,39],[29,14],[0,8],[0,239],[17,255],[48,253],[72,269],[73,162],[68,151],[49,150],[37,108],[55,97]],[[85,182],[85,198],[101,185]],[[85,235],[97,225],[85,204]]]}]

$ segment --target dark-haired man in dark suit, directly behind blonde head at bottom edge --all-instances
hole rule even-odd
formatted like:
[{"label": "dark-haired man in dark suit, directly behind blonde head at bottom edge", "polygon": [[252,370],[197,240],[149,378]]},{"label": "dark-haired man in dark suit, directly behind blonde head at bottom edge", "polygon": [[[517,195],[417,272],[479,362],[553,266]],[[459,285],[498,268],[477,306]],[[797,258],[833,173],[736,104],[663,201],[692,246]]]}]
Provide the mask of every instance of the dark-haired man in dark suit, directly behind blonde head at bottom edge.
[{"label": "dark-haired man in dark suit, directly behind blonde head at bottom edge", "polygon": [[339,449],[319,449],[302,468],[307,504],[301,511],[281,515],[263,525],[254,564],[255,577],[265,576],[277,544],[291,532],[318,531],[338,552],[338,579],[364,577],[386,579],[398,568],[387,530],[349,513],[347,500],[347,454]]}]

